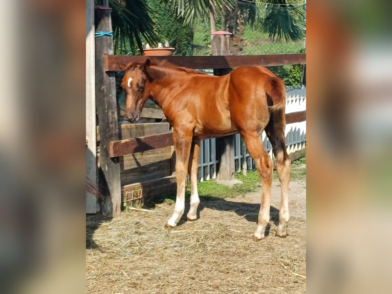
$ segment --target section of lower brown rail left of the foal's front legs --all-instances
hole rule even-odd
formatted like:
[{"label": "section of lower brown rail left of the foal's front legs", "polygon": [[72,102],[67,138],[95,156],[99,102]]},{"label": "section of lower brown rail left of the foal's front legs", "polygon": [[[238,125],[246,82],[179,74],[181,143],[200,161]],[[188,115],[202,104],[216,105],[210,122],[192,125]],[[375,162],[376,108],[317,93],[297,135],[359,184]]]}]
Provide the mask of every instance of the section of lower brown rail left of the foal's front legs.
[{"label": "section of lower brown rail left of the foal's front legs", "polygon": [[172,133],[166,133],[161,135],[112,141],[109,143],[109,150],[112,157],[117,157],[130,153],[168,147],[173,145],[173,143]]}]

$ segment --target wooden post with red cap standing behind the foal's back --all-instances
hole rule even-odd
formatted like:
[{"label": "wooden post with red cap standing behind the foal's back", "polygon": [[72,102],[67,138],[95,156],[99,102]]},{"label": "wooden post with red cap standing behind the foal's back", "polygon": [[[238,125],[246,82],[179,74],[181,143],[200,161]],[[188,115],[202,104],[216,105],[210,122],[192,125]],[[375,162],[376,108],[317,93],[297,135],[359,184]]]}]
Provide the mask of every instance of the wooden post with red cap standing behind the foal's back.
[{"label": "wooden post with red cap standing behind the foal's back", "polygon": [[[212,55],[230,55],[229,37],[231,33],[217,31],[211,33]],[[225,75],[231,71],[227,69],[214,69],[214,75]],[[235,180],[235,161],[234,161],[234,136],[225,136],[216,139],[217,156],[220,159],[219,170],[216,180],[219,183],[233,185],[241,182]]]}]

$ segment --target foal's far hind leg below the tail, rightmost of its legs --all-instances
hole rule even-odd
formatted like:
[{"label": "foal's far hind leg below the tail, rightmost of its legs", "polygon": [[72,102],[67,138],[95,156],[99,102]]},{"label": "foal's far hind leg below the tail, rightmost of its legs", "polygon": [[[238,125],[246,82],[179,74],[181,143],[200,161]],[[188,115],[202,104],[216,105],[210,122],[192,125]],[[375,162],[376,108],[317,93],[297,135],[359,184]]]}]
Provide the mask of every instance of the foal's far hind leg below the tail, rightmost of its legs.
[{"label": "foal's far hind leg below the tail, rightmost of its legs", "polygon": [[270,122],[266,127],[266,134],[272,144],[275,156],[275,166],[281,186],[281,203],[279,210],[279,225],[276,236],[287,236],[287,224],[289,222],[289,181],[291,159],[286,151],[285,140],[285,113],[279,110],[271,114]]}]

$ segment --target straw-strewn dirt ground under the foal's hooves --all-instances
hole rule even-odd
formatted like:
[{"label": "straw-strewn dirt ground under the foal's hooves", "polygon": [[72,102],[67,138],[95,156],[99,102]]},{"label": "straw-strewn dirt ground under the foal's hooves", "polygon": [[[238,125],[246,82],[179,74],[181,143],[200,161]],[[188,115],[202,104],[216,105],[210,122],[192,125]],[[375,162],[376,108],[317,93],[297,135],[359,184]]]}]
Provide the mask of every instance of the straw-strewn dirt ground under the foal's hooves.
[{"label": "straw-strewn dirt ground under the foal's hooves", "polygon": [[290,182],[287,238],[274,236],[280,206],[274,180],[266,238],[251,239],[259,198],[258,191],[202,199],[200,218],[183,218],[172,230],[164,229],[172,203],[111,221],[86,217],[86,292],[305,293],[306,181]]}]

